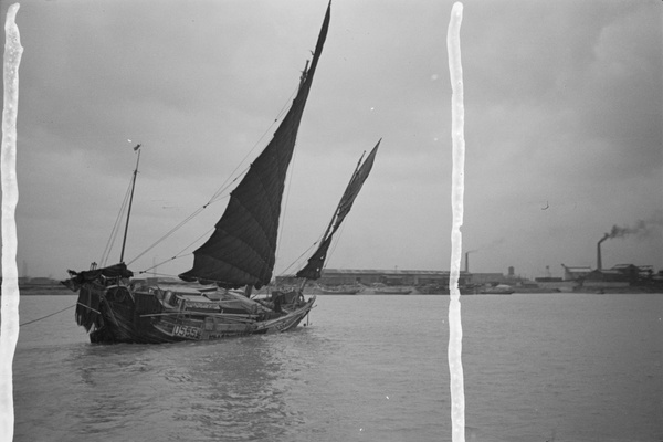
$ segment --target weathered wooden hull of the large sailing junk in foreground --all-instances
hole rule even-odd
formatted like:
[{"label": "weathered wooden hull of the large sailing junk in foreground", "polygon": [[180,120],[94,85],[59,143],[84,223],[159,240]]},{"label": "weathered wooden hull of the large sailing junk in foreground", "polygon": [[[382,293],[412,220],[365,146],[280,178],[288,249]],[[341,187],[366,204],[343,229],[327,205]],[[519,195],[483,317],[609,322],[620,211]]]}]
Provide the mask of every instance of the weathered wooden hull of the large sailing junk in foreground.
[{"label": "weathered wooden hull of the large sailing junk in foreground", "polygon": [[302,297],[296,304],[280,305],[280,312],[275,312],[236,296],[213,301],[201,294],[168,295],[169,292],[86,284],[81,288],[78,309],[92,313],[93,320],[78,324],[91,332],[92,343],[99,344],[215,340],[293,329],[315,302],[315,296],[308,301]]}]

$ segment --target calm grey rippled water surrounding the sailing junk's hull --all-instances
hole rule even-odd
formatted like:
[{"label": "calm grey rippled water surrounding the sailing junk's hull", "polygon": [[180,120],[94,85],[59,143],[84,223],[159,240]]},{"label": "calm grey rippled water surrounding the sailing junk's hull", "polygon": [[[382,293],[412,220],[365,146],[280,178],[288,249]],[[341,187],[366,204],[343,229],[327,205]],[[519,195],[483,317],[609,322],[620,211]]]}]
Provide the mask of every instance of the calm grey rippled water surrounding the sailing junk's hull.
[{"label": "calm grey rippled water surrounding the sailing junk's hull", "polygon": [[[69,309],[21,327],[14,440],[451,441],[448,303],[318,296],[296,332],[161,346],[93,346]],[[663,295],[461,303],[467,441],[663,441]]]}]

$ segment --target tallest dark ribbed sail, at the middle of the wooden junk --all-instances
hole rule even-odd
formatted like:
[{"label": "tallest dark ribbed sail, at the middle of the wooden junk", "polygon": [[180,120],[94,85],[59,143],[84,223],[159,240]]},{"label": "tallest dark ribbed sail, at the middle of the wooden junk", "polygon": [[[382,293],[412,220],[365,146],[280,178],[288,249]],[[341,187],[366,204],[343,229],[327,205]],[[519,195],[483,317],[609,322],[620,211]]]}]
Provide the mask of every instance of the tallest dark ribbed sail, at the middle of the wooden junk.
[{"label": "tallest dark ribbed sail, at the middle of the wooden junk", "polygon": [[227,288],[245,285],[260,288],[272,278],[286,172],[327,36],[330,8],[332,3],[327,7],[311,67],[303,74],[292,107],[267,147],[231,193],[225,212],[212,235],[193,252],[193,267],[180,274],[180,278],[214,282]]}]

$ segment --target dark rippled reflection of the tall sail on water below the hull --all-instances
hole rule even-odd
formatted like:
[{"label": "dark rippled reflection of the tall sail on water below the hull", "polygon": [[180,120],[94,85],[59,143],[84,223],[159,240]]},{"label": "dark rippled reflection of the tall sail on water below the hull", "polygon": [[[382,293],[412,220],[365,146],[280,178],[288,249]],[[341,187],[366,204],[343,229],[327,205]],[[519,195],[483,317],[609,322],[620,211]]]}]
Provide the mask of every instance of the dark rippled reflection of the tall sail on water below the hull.
[{"label": "dark rippled reflection of the tall sail on water below the hull", "polygon": [[[295,425],[297,415],[283,399],[283,364],[271,340],[250,337],[194,345],[189,364],[165,373],[176,382],[186,379],[177,398],[183,407],[172,419],[210,440],[265,440]],[[190,394],[190,382],[197,394]]]}]

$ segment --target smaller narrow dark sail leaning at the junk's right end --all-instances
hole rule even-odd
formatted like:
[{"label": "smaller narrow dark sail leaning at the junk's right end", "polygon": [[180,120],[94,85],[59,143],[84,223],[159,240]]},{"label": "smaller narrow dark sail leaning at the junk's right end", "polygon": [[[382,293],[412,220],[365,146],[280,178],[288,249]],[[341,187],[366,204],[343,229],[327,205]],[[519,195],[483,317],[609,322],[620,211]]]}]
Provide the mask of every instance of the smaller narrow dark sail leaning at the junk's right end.
[{"label": "smaller narrow dark sail leaning at the junk's right end", "polygon": [[[381,141],[381,139],[380,139]],[[297,277],[305,277],[307,280],[318,280],[320,277],[320,272],[325,266],[325,260],[327,259],[327,252],[329,250],[329,244],[332,244],[332,238],[334,233],[340,227],[343,220],[347,217],[352,208],[352,203],[355,199],[359,194],[359,190],[361,190],[361,186],[364,186],[364,181],[368,178],[370,173],[370,169],[372,168],[372,164],[376,159],[376,154],[378,152],[378,147],[380,146],[380,141],[373,147],[368,158],[361,166],[357,165],[357,169],[346,188],[346,191],[336,208],[336,212],[334,212],[334,217],[332,217],[332,223],[329,228],[327,228],[327,232],[323,236],[323,241],[314,254],[308,259],[308,263],[304,269],[297,272]],[[359,160],[361,162],[361,160]]]}]

